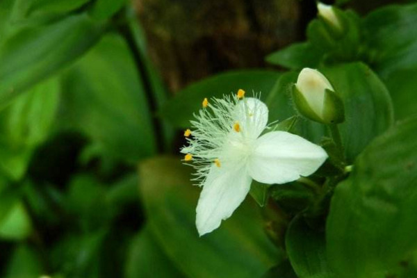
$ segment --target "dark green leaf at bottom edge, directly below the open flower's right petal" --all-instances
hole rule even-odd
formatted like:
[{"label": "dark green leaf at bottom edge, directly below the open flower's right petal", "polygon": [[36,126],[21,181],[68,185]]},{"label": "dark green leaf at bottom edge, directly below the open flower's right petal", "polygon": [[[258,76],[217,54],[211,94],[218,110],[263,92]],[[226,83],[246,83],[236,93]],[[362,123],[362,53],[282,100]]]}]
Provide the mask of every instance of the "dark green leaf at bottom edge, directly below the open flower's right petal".
[{"label": "dark green leaf at bottom edge, directly below the open flower's right petal", "polygon": [[327,262],[325,232],[312,229],[300,216],[288,227],[286,248],[298,277],[334,277]]}]

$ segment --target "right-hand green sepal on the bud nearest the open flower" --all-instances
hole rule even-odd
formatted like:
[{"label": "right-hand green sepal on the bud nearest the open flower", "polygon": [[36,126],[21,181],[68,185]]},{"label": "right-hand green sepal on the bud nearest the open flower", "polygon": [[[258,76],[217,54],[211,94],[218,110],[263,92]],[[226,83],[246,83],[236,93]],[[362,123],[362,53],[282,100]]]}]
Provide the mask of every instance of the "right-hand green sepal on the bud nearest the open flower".
[{"label": "right-hand green sepal on the bud nearest the open flower", "polygon": [[345,107],[336,92],[326,89],[322,121],[326,124],[340,124],[345,121]]}]

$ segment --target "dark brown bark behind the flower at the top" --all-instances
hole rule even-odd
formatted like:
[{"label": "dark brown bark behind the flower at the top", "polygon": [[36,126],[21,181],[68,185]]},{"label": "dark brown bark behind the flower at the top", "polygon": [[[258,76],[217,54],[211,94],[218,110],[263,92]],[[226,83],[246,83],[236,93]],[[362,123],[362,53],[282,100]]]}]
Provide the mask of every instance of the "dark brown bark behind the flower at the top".
[{"label": "dark brown bark behind the flower at the top", "polygon": [[297,0],[137,0],[149,55],[169,88],[223,70],[264,67],[300,38]]}]

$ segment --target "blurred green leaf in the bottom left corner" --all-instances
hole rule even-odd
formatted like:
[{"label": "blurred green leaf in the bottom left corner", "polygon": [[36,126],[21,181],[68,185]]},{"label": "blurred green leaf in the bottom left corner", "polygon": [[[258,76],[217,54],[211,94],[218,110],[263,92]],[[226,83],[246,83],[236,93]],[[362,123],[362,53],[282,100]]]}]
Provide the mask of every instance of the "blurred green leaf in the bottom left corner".
[{"label": "blurred green leaf in the bottom left corner", "polygon": [[44,274],[40,254],[28,245],[17,245],[8,262],[6,278],[34,278]]}]

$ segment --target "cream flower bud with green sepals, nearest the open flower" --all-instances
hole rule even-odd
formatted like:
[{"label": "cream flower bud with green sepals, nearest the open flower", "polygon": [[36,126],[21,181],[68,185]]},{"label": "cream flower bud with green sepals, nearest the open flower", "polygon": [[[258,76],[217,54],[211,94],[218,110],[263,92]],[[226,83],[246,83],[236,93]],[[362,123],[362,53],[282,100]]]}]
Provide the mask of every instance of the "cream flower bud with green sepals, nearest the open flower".
[{"label": "cream flower bud with green sepals, nearest the open flower", "polygon": [[310,120],[338,124],[345,120],[343,101],[327,78],[318,70],[304,68],[293,86],[297,110]]}]

